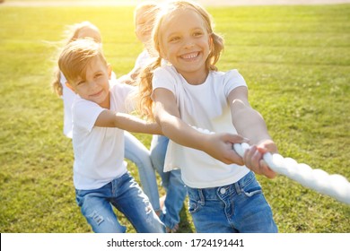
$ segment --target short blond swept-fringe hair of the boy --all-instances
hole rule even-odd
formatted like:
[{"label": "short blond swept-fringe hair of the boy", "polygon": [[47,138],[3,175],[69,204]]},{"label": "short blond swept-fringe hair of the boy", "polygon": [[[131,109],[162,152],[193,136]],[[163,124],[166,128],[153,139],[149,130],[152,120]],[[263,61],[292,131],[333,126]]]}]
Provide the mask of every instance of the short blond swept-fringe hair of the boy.
[{"label": "short blond swept-fringe hair of the boy", "polygon": [[76,39],[63,48],[58,58],[58,66],[66,80],[74,82],[79,77],[85,79],[86,69],[96,57],[107,67],[100,43],[88,38]]}]

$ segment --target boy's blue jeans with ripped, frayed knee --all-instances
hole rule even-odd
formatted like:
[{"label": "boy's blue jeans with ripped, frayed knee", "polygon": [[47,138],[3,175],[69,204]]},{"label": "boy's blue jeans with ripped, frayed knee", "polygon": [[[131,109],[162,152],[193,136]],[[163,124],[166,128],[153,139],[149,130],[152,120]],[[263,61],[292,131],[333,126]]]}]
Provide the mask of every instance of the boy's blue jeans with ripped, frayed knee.
[{"label": "boy's blue jeans with ripped, frayed knee", "polygon": [[153,211],[141,187],[127,172],[99,189],[75,189],[76,202],[96,233],[124,233],[112,205],[122,212],[139,233],[162,233],[164,225]]}]

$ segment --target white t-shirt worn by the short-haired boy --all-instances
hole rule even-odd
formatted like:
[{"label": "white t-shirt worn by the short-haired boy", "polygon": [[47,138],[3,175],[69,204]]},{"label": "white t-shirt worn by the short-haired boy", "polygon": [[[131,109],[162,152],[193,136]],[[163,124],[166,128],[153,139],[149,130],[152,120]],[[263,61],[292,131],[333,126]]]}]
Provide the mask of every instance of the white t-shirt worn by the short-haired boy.
[{"label": "white t-shirt worn by the short-haired boy", "polygon": [[[110,110],[126,112],[126,99],[134,90],[127,84],[110,87]],[[94,126],[104,108],[75,96],[73,115],[74,186],[97,189],[127,172],[124,161],[124,131]]]}]

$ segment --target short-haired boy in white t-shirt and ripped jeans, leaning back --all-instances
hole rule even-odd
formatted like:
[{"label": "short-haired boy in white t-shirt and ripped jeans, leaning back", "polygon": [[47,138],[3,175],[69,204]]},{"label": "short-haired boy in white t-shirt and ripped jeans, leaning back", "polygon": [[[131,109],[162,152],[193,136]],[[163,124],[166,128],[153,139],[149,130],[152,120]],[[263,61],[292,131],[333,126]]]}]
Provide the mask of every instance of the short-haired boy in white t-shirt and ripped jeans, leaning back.
[{"label": "short-haired boy in white t-shirt and ripped jeans, leaning back", "polygon": [[101,45],[78,39],[66,45],[58,65],[76,95],[73,114],[74,186],[76,200],[94,232],[126,232],[111,205],[137,232],[163,232],[153,207],[127,172],[124,131],[161,134],[156,124],[129,116],[128,85],[109,85],[111,66]]}]

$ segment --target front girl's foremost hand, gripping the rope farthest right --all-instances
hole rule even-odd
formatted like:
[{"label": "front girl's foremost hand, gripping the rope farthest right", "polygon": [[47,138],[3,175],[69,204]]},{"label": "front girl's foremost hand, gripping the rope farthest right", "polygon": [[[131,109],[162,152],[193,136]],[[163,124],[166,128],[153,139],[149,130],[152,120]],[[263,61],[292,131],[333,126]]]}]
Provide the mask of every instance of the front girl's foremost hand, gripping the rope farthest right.
[{"label": "front girl's foremost hand, gripping the rope farthest right", "polygon": [[276,143],[272,140],[264,140],[258,145],[253,145],[244,153],[244,164],[257,174],[264,175],[268,178],[276,177],[276,172],[267,166],[267,162],[263,160],[266,152],[276,153]]}]

